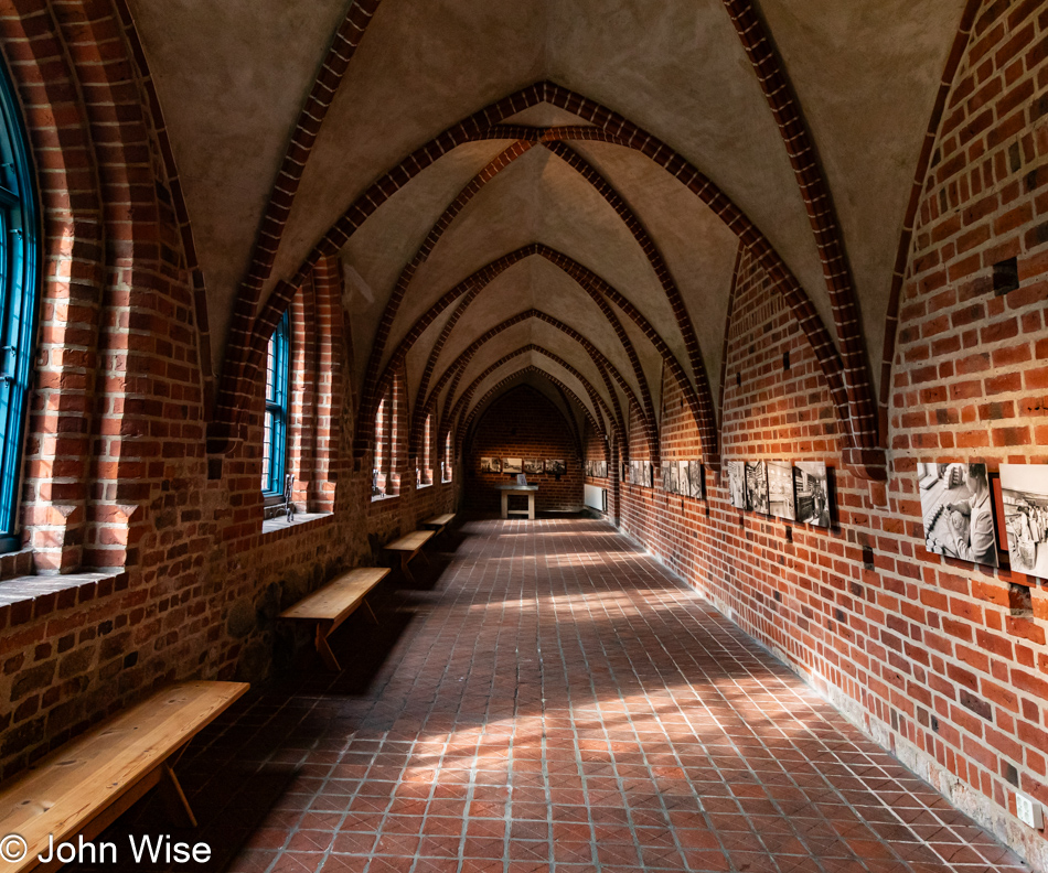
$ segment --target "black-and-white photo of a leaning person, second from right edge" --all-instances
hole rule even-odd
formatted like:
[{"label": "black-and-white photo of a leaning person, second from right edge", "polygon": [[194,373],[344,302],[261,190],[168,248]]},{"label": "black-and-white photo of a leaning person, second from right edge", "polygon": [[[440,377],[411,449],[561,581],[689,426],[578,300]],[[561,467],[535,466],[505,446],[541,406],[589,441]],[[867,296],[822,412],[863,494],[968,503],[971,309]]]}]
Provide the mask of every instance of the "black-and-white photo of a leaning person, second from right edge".
[{"label": "black-and-white photo of a leaning person, second from right edge", "polygon": [[917,485],[928,551],[997,567],[993,495],[986,465],[918,463]]}]

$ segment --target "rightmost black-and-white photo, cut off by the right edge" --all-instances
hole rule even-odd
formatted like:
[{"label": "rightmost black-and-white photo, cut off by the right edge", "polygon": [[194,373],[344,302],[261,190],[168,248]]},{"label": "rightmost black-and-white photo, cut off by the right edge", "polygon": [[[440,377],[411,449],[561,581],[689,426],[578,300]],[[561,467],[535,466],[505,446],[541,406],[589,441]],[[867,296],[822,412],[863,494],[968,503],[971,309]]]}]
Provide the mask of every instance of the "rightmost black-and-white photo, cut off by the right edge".
[{"label": "rightmost black-and-white photo, cut off by the right edge", "polygon": [[1002,464],[1012,569],[1048,579],[1048,464]]}]

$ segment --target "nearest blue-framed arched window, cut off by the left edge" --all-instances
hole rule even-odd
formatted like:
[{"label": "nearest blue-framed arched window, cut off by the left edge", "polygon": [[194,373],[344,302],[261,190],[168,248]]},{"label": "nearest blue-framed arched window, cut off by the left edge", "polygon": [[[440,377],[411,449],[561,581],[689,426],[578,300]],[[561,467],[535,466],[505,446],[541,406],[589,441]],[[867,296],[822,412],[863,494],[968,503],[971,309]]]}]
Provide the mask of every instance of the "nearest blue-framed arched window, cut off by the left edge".
[{"label": "nearest blue-framed arched window, cut off by the left edge", "polygon": [[0,552],[21,547],[22,433],[36,345],[36,214],[25,129],[0,65]]}]

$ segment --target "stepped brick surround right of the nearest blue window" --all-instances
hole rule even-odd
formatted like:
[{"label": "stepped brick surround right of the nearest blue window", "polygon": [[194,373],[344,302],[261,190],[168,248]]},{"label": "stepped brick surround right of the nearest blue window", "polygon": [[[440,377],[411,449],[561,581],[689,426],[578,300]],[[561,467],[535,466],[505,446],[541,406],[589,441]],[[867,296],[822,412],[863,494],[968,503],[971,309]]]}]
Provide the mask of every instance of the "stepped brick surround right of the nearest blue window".
[{"label": "stepped brick surround right of the nearest blue window", "polygon": [[[54,304],[41,308],[23,529],[51,528],[34,556],[40,569],[122,565],[151,530],[138,510],[160,484],[141,472],[152,441],[165,439],[152,406],[165,380],[181,378],[151,366],[154,337],[197,359],[184,328],[193,319],[175,312],[192,313],[194,301],[181,281],[177,218],[159,196],[167,165],[119,7],[74,2],[56,15],[44,0],[9,0],[8,9],[0,32],[42,195],[41,298]],[[62,434],[46,457],[44,431]]]}]

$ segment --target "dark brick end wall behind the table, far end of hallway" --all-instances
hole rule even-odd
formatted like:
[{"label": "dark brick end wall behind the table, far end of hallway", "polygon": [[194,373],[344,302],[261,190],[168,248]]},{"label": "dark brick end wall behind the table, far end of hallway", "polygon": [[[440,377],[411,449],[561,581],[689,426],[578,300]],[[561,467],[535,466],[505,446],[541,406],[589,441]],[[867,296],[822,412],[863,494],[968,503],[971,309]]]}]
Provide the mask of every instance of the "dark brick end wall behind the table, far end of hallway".
[{"label": "dark brick end wall behind the table, far end of hallway", "polygon": [[[542,457],[563,460],[567,474],[528,475],[538,483],[535,508],[577,509],[582,505],[582,468],[578,443],[560,410],[534,388],[522,386],[495,400],[483,413],[466,452],[466,505],[470,509],[498,510],[501,495],[495,485],[512,483],[505,474],[481,473],[481,457]],[[523,498],[522,498],[523,499]]]}]

